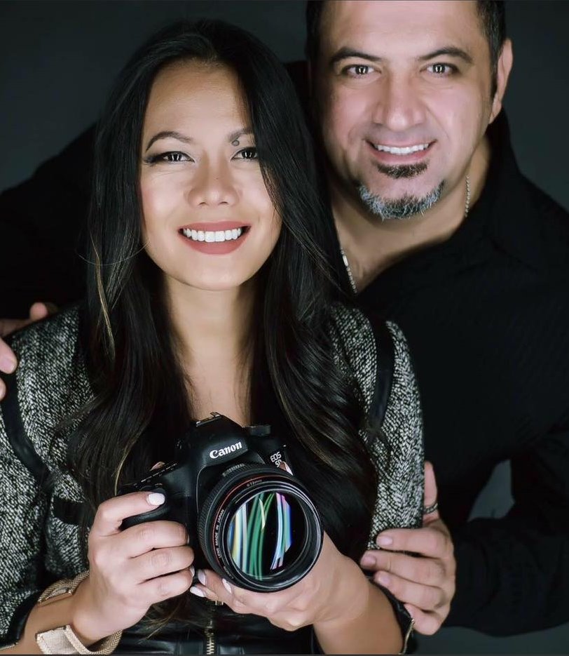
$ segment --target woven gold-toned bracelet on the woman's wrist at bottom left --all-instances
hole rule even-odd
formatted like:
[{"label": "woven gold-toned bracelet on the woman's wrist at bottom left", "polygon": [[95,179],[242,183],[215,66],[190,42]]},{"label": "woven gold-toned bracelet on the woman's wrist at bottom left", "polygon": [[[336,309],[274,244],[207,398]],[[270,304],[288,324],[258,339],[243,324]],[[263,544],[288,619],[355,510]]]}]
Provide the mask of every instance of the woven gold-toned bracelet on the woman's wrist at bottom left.
[{"label": "woven gold-toned bracelet on the woman's wrist at bottom left", "polygon": [[[63,579],[50,585],[48,589],[44,590],[38,599],[38,604],[43,605],[58,601],[56,598],[62,596],[72,595],[78,588],[78,585],[84,581],[89,575],[89,572],[81,572],[73,579]],[[121,640],[123,631],[117,631],[98,641],[90,648],[85,647],[78,636],[76,636],[73,629],[69,624],[64,627],[57,627],[57,629],[50,629],[48,631],[40,631],[36,634],[36,643],[38,644],[43,654],[101,654],[107,655],[114,652],[118,642]]]}]

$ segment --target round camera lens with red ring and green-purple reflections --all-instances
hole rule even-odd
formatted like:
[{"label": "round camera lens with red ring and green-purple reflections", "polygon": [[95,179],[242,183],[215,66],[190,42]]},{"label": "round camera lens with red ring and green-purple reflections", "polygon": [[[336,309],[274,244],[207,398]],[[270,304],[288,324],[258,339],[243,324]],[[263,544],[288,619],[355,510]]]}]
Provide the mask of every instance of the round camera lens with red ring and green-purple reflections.
[{"label": "round camera lens with red ring and green-purple reflections", "polygon": [[249,590],[276,591],[313,568],[322,523],[294,476],[243,464],[225,472],[207,497],[198,538],[217,573]]}]

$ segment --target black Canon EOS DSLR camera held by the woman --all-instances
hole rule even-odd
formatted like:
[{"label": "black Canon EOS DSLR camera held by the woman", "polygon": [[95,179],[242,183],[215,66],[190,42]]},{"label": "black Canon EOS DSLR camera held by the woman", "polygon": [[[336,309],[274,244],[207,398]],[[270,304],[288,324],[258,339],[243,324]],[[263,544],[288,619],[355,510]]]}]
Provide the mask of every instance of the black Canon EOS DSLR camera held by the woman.
[{"label": "black Canon EOS DSLR camera held by the woman", "polygon": [[196,568],[209,566],[238,587],[285,589],[320,555],[320,515],[270,426],[241,427],[212,413],[177,441],[174,462],[120,494],[140,490],[163,492],[165,503],[123,528],[157,519],[184,524]]}]

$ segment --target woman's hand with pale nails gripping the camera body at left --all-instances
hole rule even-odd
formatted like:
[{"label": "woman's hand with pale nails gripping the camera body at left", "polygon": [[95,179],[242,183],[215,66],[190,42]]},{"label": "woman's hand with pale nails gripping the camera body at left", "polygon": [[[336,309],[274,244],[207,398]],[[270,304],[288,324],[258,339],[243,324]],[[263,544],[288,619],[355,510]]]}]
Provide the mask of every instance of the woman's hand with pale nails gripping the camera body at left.
[{"label": "woman's hand with pale nails gripping the camera body at left", "polygon": [[90,573],[74,595],[71,622],[85,644],[132,627],[153,603],[191,586],[193,550],[184,526],[152,521],[121,530],[123,519],[163,502],[160,493],[137,492],[97,509],[88,542]]}]

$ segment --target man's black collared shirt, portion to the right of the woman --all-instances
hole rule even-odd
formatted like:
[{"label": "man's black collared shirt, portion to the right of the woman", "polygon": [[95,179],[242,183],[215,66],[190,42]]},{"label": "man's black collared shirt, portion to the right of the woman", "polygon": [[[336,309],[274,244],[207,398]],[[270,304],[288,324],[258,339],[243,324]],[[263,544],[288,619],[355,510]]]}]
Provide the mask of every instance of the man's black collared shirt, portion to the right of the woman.
[{"label": "man's black collared shirt, portion to the right of the woman", "polygon": [[[446,624],[505,635],[569,620],[569,215],[519,172],[505,117],[489,136],[467,219],[359,303],[395,320],[413,354],[458,562]],[[467,521],[504,460],[514,506]]]}]

